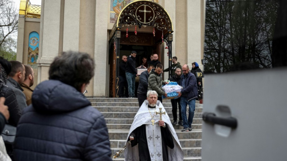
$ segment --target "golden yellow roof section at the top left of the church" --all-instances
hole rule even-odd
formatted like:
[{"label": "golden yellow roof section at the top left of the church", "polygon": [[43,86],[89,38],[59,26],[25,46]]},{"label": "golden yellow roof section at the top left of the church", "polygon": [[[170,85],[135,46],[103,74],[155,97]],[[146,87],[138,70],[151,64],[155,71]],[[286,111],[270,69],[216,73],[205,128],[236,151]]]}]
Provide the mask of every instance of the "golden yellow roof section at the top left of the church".
[{"label": "golden yellow roof section at the top left of the church", "polygon": [[29,0],[21,0],[19,14],[25,15],[25,17],[30,17],[30,18],[40,18],[41,6],[31,5]]}]

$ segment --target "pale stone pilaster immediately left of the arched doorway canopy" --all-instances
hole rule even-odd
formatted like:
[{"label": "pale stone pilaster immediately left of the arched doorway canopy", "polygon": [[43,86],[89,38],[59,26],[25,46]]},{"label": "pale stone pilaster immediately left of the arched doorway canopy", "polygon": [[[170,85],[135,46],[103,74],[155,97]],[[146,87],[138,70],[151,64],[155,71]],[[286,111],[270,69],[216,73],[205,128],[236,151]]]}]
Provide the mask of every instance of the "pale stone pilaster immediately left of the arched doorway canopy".
[{"label": "pale stone pilaster immediately left of the arched doorway canopy", "polygon": [[108,2],[96,1],[95,13],[95,76],[94,96],[108,96]]}]

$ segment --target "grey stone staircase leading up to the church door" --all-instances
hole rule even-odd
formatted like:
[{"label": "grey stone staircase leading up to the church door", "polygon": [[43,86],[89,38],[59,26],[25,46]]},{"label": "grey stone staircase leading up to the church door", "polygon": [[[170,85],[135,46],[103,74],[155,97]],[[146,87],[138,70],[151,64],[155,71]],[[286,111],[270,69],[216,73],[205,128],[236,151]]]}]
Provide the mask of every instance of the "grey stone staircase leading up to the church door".
[{"label": "grey stone staircase leading up to the church door", "polygon": [[[126,143],[128,131],[139,109],[137,98],[88,99],[92,102],[92,106],[105,116],[113,156]],[[171,122],[173,122],[170,100],[163,100],[163,107],[166,109]],[[201,161],[202,110],[203,105],[196,103],[191,132],[181,132],[182,126],[173,126],[182,146],[184,161]],[[119,158],[113,160],[124,160],[124,152],[121,153]]]}]

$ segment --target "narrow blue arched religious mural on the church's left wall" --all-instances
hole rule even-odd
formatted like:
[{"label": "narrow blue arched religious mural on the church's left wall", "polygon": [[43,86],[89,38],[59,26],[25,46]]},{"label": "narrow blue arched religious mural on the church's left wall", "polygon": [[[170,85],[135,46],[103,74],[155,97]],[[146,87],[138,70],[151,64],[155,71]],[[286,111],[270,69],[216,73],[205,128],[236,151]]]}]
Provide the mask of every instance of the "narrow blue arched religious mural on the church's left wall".
[{"label": "narrow blue arched religious mural on the church's left wall", "polygon": [[39,56],[39,34],[35,31],[29,34],[28,65],[37,69]]}]

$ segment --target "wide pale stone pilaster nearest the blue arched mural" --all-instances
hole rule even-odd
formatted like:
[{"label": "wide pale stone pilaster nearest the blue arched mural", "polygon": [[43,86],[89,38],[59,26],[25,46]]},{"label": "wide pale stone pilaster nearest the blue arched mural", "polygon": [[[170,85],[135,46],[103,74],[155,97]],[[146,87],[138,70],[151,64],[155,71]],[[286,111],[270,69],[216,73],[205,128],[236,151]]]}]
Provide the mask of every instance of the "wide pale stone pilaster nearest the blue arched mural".
[{"label": "wide pale stone pilaster nearest the blue arched mural", "polygon": [[64,0],[42,0],[40,22],[40,51],[38,83],[48,79],[49,67],[59,55],[60,17]]}]

